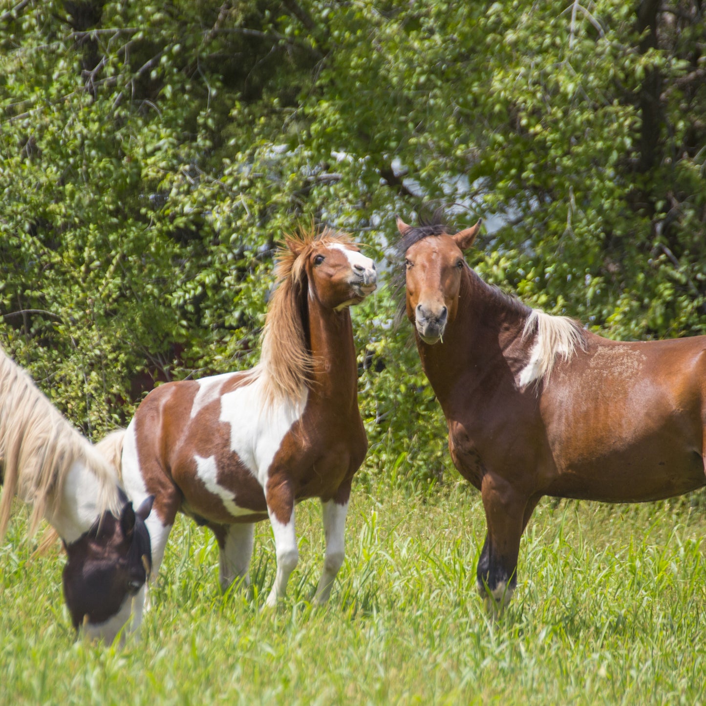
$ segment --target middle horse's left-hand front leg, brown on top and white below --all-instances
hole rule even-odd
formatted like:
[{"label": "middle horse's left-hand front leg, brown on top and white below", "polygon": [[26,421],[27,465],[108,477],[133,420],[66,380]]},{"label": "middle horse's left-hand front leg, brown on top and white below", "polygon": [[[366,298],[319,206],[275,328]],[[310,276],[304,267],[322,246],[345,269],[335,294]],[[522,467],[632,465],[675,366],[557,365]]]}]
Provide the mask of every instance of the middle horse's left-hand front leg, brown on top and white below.
[{"label": "middle horse's left-hand front leg, brown on top and white below", "polygon": [[285,597],[289,575],[297,568],[299,548],[297,534],[294,531],[294,493],[287,481],[276,481],[270,478],[267,491],[267,511],[270,524],[275,534],[275,556],[277,556],[277,573],[267,599],[267,606],[273,608],[277,600]]}]

